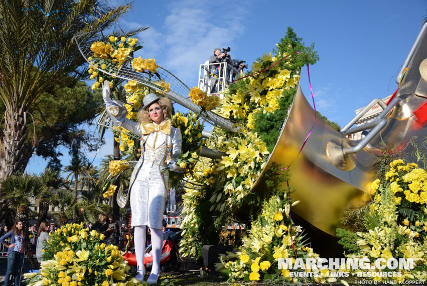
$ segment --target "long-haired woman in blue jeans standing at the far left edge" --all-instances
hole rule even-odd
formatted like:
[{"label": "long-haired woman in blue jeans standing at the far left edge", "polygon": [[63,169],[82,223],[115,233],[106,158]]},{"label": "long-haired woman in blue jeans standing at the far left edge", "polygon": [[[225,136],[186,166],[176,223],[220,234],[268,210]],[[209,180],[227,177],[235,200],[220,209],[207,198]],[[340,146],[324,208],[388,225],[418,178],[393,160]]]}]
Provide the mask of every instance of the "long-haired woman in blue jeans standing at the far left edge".
[{"label": "long-haired woman in blue jeans standing at the far left edge", "polygon": [[[9,244],[6,242],[8,238]],[[28,241],[22,221],[16,222],[10,232],[0,237],[0,243],[3,243],[8,248],[8,268],[5,275],[5,286],[10,285],[10,275],[12,273],[15,276],[15,286],[19,286],[21,267],[24,262],[24,249]]]}]

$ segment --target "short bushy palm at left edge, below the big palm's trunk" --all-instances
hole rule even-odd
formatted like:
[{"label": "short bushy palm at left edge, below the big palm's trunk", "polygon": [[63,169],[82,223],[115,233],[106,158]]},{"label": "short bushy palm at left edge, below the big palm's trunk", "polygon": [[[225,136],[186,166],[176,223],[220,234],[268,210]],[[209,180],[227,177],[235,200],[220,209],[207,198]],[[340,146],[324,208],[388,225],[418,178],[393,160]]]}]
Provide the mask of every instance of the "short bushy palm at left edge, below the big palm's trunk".
[{"label": "short bushy palm at left edge, below the big palm's trunk", "polygon": [[16,174],[7,177],[1,186],[4,203],[16,213],[15,220],[22,221],[28,227],[28,212],[31,199],[38,196],[41,185],[38,179],[29,174]]}]

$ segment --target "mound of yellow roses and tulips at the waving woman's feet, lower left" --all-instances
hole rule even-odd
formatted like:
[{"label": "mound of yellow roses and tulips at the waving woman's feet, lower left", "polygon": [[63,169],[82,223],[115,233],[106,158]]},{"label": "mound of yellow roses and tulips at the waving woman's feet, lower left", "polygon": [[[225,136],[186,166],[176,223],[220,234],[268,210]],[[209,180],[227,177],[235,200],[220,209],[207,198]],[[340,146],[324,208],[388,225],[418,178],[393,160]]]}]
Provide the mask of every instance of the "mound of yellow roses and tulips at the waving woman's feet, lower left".
[{"label": "mound of yellow roses and tulips at the waving woman's feet, lower left", "polygon": [[39,273],[27,273],[27,285],[131,286],[137,280],[116,246],[82,224],[67,224],[49,234]]}]

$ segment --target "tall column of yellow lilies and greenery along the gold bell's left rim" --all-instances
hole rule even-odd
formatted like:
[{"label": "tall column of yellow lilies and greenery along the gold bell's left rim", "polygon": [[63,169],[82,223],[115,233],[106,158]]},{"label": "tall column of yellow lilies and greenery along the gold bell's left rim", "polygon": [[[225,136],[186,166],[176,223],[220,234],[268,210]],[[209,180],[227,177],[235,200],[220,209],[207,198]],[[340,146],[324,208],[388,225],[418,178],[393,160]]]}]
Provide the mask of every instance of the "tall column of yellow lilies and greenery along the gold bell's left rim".
[{"label": "tall column of yellow lilies and greenery along the gold bell's left rim", "polygon": [[[206,139],[206,147],[227,155],[216,160],[199,160],[191,182],[204,188],[185,188],[182,215],[189,216],[189,219],[182,224],[185,233],[180,250],[185,254],[200,255],[200,241],[205,244],[216,243],[215,240],[211,242],[206,239],[208,235],[203,226],[213,225],[219,233],[220,226],[230,221],[236,222],[236,214],[242,211],[242,206],[248,207],[256,215],[260,202],[265,198],[251,190],[269,155],[265,141],[261,138],[266,133],[278,130],[286,118],[288,102],[292,102],[295,94],[291,91],[297,85],[299,69],[306,63],[306,58],[310,58],[310,63],[317,59],[316,52],[304,47],[301,38],[297,38],[292,29],[288,30],[287,36],[276,47],[274,56],[269,53],[253,63],[248,73],[254,75],[229,85],[223,92],[224,98],[216,107],[215,113],[236,122],[242,133],[214,128],[212,136]],[[295,51],[301,51],[301,54],[297,56]],[[286,60],[276,62],[283,57]],[[301,57],[303,60],[300,60]],[[190,98],[194,103],[206,104],[204,94],[195,88],[192,91]],[[274,127],[263,128],[260,118],[263,116],[262,120],[268,121],[276,113],[278,116]],[[269,135],[269,146],[275,145],[278,132],[273,137]],[[191,199],[190,195],[197,195],[197,198]],[[198,212],[202,210],[212,215],[199,215]],[[199,232],[202,229],[203,234]]]}]

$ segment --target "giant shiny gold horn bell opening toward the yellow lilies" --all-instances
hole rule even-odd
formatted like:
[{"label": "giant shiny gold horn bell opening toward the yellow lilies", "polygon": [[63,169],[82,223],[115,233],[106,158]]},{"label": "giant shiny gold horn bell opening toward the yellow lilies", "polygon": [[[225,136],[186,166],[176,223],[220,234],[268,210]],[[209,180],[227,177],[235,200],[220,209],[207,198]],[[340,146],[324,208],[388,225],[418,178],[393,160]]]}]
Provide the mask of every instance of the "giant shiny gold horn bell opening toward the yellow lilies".
[{"label": "giant shiny gold horn bell opening toward the yellow lilies", "polygon": [[[302,149],[303,143],[313,131]],[[298,84],[294,101],[277,143],[253,189],[262,192],[264,175],[272,163],[289,166],[294,200],[301,201],[293,212],[316,228],[335,235],[345,210],[371,200],[362,190],[374,179],[376,157],[365,150],[343,154],[355,143],[317,117]],[[283,186],[284,187],[284,186]]]}]

